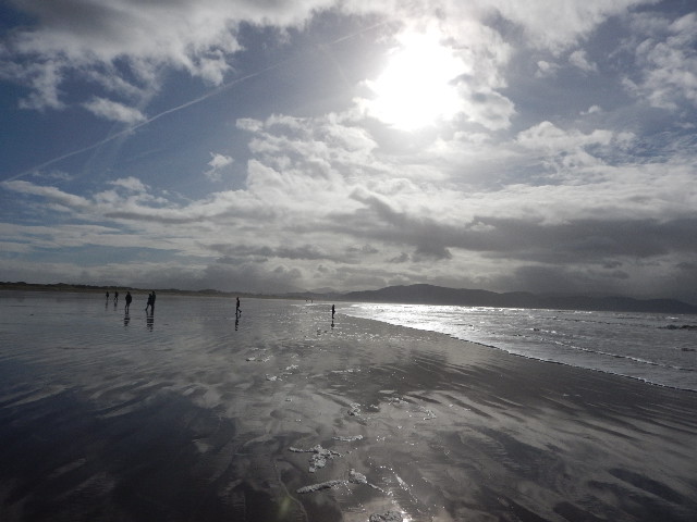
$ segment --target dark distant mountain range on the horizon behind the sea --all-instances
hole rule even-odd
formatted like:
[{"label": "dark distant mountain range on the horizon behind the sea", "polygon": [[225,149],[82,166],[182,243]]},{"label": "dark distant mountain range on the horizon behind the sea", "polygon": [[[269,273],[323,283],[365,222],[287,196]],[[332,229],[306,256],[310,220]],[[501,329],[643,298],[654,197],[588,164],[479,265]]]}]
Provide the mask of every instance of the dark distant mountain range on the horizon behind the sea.
[{"label": "dark distant mountain range on the horizon behind the sea", "polygon": [[456,304],[463,307],[542,308],[656,313],[697,313],[697,307],[675,299],[629,297],[549,296],[526,291],[497,294],[487,290],[445,288],[433,285],[389,286],[379,290],[341,294],[342,300],[358,302],[402,302],[413,304]]}]

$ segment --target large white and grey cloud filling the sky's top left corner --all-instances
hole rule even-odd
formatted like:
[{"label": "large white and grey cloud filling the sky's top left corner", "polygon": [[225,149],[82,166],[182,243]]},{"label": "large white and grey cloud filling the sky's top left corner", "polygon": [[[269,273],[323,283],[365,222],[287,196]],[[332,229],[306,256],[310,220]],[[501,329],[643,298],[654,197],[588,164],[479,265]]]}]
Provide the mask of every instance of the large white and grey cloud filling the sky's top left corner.
[{"label": "large white and grey cloud filling the sky's top left corner", "polygon": [[241,49],[236,33],[242,22],[298,26],[333,1],[13,3],[37,23],[5,38],[9,59],[0,74],[33,88],[23,107],[60,109],[63,101],[59,87],[69,72],[97,79],[121,95],[131,92],[138,99],[157,91],[158,72],[162,67],[186,71],[220,85],[231,71],[229,57]]}]

